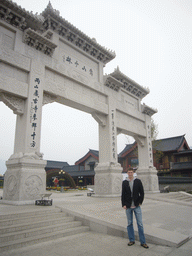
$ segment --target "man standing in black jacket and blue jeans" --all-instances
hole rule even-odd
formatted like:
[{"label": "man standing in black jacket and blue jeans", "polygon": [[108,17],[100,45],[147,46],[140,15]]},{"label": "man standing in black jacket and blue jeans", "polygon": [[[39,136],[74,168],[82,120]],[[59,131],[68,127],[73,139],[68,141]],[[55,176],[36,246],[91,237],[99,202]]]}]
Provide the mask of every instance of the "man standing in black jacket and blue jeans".
[{"label": "man standing in black jacket and blue jeans", "polygon": [[139,232],[139,240],[141,246],[144,248],[149,248],[145,242],[145,235],[142,223],[142,212],[141,204],[144,199],[144,189],[141,180],[134,177],[133,168],[129,168],[127,171],[128,179],[124,180],[122,183],[122,195],[121,202],[122,207],[126,210],[127,215],[127,232],[129,237],[128,246],[135,244],[135,234],[133,229],[133,212],[136,217],[137,227]]}]

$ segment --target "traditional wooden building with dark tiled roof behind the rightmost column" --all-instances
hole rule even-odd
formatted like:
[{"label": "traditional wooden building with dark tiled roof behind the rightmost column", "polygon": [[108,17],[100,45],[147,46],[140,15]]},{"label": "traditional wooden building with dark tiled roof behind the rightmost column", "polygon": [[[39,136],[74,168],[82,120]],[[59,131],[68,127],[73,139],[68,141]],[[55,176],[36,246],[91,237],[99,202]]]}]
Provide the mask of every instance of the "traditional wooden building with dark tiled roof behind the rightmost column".
[{"label": "traditional wooden building with dark tiled roof behind the rightmost column", "polygon": [[[123,172],[138,166],[137,142],[126,145],[118,157]],[[153,162],[159,176],[192,177],[192,150],[185,135],[153,141]]]}]

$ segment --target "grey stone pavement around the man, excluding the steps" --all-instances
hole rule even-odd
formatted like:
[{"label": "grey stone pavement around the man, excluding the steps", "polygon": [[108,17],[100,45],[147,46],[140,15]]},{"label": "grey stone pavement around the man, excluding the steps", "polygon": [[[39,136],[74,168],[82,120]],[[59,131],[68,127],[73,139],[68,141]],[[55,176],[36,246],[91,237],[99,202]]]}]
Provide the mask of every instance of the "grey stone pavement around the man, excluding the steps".
[{"label": "grey stone pavement around the man, excluding the steps", "polygon": [[[0,196],[2,190],[0,190]],[[129,247],[127,219],[120,198],[88,197],[87,191],[53,192],[53,206],[90,224],[89,232],[35,244],[7,252],[5,256],[62,255],[192,255],[192,203],[169,199],[167,194],[146,194],[142,205],[143,223],[149,249],[139,241]],[[0,214],[39,211],[43,206],[0,204]],[[137,233],[137,227],[134,223]],[[184,243],[176,248],[176,244]],[[154,244],[156,243],[156,244]],[[167,246],[168,243],[171,246]],[[160,245],[159,245],[160,244]],[[163,245],[164,244],[164,245]]]}]

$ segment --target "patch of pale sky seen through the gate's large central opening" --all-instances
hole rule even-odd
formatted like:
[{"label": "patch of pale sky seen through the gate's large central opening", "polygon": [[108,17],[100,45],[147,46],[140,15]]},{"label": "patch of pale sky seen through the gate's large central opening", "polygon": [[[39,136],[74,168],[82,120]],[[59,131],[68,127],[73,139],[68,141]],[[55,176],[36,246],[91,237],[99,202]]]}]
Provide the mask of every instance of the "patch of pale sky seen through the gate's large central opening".
[{"label": "patch of pale sky seen through the gate's large central opening", "polygon": [[47,160],[65,160],[73,165],[88,148],[98,150],[95,119],[59,103],[43,106],[41,133],[41,152]]}]

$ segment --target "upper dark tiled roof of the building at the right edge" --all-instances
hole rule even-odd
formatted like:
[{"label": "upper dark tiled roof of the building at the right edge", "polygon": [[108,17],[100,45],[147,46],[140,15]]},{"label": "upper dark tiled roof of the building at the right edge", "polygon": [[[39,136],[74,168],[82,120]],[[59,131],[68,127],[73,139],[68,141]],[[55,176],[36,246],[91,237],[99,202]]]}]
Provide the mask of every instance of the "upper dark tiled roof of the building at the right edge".
[{"label": "upper dark tiled roof of the building at the right edge", "polygon": [[186,148],[189,149],[187,142],[185,141],[185,135],[171,137],[167,139],[160,139],[153,141],[153,149],[159,151],[177,151],[185,143]]}]

